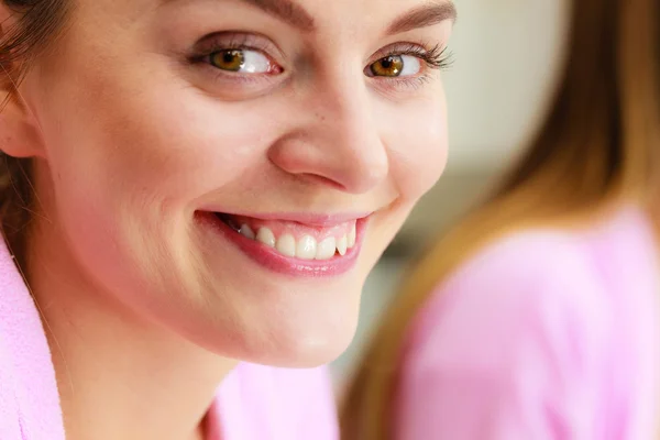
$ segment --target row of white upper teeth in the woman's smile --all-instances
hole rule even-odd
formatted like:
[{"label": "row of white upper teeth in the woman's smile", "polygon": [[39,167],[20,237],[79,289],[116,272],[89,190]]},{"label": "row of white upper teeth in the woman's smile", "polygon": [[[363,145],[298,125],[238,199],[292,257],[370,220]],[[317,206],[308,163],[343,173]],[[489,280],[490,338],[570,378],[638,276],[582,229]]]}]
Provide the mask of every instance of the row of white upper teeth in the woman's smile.
[{"label": "row of white upper teeth in the woman's smile", "polygon": [[239,233],[251,240],[264,243],[285,256],[298,257],[300,260],[330,260],[334,256],[336,252],[340,255],[345,255],[348,250],[355,245],[355,224],[353,224],[348,234],[339,239],[328,237],[321,242],[317,242],[311,235],[304,235],[296,241],[294,235],[289,233],[276,238],[268,228],[260,228],[255,234],[248,224],[241,226]]}]

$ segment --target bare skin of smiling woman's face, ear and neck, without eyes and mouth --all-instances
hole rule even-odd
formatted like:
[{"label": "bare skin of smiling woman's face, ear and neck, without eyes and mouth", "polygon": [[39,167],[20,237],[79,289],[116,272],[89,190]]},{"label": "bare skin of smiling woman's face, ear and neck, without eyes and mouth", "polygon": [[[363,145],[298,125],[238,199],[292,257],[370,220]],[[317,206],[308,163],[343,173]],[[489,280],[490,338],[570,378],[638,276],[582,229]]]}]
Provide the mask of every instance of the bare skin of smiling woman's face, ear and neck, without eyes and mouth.
[{"label": "bare skin of smiling woman's face, ear and neck, without eyes and mouth", "polygon": [[[34,158],[26,270],[72,439],[196,438],[235,360],[334,359],[369,271],[440,176],[440,72],[364,70],[392,45],[446,46],[451,21],[386,35],[422,3],[297,4],[316,30],[240,0],[80,0],[11,97],[3,150]],[[197,61],[234,31],[280,73]],[[374,215],[354,268],[302,278],[248,258],[204,209]]]}]

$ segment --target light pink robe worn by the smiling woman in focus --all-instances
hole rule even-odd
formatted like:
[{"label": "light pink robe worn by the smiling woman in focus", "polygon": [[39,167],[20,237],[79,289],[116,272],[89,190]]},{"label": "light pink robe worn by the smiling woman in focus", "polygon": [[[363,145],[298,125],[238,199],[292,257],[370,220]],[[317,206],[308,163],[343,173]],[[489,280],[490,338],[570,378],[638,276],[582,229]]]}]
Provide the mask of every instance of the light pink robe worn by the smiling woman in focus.
[{"label": "light pink robe worn by the smiling woman in focus", "polygon": [[[326,369],[240,364],[221,384],[209,440],[337,440]],[[0,240],[0,439],[64,440],[41,319]]]}]

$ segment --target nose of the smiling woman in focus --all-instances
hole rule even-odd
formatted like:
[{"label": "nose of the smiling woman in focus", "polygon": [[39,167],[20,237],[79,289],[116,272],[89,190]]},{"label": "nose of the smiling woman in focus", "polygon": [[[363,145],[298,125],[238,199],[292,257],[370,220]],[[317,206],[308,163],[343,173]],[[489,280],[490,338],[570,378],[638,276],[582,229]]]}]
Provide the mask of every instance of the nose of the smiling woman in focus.
[{"label": "nose of the smiling woman in focus", "polygon": [[364,194],[389,173],[385,142],[364,82],[310,91],[294,111],[296,128],[270,150],[270,160],[288,174],[309,182]]}]

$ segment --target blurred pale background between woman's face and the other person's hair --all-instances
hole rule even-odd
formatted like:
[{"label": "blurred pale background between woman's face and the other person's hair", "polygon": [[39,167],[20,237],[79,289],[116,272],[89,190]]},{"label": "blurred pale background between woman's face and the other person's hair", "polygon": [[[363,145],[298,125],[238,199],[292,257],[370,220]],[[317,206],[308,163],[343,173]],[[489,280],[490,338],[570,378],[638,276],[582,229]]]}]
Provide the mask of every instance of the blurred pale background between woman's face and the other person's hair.
[{"label": "blurred pale background between woman's face and the other person's hair", "polygon": [[454,0],[459,20],[443,74],[449,164],[373,271],[350,349],[332,365],[341,393],[411,258],[487,194],[543,118],[561,69],[566,0]]}]

